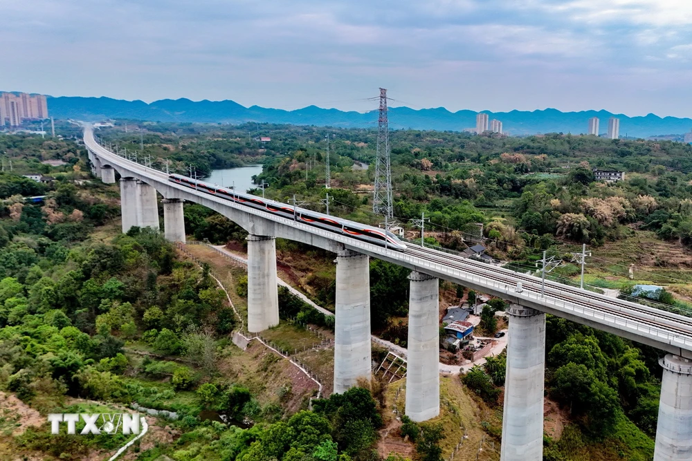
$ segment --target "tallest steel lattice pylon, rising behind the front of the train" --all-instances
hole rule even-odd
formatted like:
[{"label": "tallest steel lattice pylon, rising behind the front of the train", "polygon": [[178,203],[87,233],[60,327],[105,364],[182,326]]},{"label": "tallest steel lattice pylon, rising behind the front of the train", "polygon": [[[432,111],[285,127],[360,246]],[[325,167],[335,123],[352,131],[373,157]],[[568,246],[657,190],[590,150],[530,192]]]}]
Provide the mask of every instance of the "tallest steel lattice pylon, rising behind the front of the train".
[{"label": "tallest steel lattice pylon, rising behind the front of the train", "polygon": [[387,120],[387,90],[380,88],[380,109],[377,120],[377,157],[375,159],[375,191],[372,211],[388,218],[394,217],[392,207],[392,167]]}]

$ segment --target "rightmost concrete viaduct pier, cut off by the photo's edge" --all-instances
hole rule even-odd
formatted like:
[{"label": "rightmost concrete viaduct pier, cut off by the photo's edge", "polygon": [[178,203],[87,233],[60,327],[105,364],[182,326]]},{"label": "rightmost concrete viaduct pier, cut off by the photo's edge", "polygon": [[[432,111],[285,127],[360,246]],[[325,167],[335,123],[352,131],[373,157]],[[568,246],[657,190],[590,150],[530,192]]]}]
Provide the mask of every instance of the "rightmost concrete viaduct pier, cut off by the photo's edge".
[{"label": "rightmost concrete viaduct pier, cut off by the photo's edge", "polygon": [[692,360],[668,354],[663,367],[654,461],[692,460]]}]

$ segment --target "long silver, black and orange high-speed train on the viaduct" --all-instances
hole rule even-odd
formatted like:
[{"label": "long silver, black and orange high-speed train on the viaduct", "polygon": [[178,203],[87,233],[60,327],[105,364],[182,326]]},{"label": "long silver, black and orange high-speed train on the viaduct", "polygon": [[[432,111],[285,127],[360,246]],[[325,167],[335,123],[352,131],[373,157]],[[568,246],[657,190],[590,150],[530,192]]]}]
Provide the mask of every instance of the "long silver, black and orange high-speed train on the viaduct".
[{"label": "long silver, black and orange high-speed train on the viaduct", "polygon": [[250,194],[242,194],[233,189],[225,189],[224,187],[219,187],[200,180],[194,180],[179,174],[168,176],[168,180],[185,187],[190,187],[190,189],[202,191],[205,194],[223,198],[224,200],[237,203],[238,205],[261,209],[262,211],[267,211],[276,216],[300,221],[301,223],[320,227],[320,229],[325,229],[336,234],[358,238],[358,240],[375,243],[376,245],[392,248],[392,250],[406,250],[406,243],[400,241],[392,232],[379,229],[378,227],[355,223],[354,221],[336,218],[335,216],[329,216],[328,214],[318,213],[317,211],[311,211],[309,209],[298,207],[294,209],[291,205],[286,205],[285,203],[267,200]]}]

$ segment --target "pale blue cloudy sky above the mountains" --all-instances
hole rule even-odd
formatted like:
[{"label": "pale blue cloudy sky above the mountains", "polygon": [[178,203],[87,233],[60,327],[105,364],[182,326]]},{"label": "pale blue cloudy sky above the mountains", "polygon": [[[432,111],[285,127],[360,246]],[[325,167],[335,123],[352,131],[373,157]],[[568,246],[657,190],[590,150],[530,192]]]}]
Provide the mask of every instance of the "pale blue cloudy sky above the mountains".
[{"label": "pale blue cloudy sky above the mountains", "polygon": [[0,91],[689,117],[689,0],[0,0]]}]

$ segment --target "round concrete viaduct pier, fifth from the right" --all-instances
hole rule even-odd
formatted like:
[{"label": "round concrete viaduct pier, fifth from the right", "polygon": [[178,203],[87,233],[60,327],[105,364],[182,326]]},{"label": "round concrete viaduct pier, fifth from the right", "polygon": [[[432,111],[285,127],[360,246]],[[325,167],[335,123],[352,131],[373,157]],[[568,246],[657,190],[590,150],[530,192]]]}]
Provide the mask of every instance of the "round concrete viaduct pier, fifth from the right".
[{"label": "round concrete viaduct pier, fifth from the right", "polygon": [[279,324],[274,237],[248,235],[248,331],[256,333]]}]

